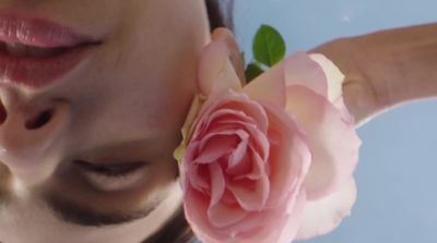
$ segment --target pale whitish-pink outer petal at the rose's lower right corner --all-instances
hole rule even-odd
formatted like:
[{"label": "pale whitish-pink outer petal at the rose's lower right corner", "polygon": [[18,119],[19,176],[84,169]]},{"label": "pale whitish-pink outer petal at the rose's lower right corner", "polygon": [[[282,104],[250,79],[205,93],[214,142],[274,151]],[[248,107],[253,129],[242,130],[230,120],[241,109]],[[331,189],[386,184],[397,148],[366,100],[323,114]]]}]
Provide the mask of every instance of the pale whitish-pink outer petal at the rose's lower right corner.
[{"label": "pale whitish-pink outer petal at the rose's lower right corner", "polygon": [[356,186],[352,179],[339,192],[307,202],[296,240],[307,240],[331,232],[351,214],[355,201]]}]

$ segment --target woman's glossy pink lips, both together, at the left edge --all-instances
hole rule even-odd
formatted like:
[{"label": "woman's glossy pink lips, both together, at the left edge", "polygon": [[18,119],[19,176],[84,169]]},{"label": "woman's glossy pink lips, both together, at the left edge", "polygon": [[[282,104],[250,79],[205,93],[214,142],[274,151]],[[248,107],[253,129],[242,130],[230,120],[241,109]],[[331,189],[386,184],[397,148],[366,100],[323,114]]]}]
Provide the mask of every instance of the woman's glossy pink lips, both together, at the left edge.
[{"label": "woman's glossy pink lips, both together, at the left edge", "polygon": [[5,50],[0,51],[0,83],[31,88],[52,84],[73,70],[93,47],[101,44],[95,37],[47,20],[1,12],[0,41],[64,49],[58,54],[40,58],[16,57]]}]

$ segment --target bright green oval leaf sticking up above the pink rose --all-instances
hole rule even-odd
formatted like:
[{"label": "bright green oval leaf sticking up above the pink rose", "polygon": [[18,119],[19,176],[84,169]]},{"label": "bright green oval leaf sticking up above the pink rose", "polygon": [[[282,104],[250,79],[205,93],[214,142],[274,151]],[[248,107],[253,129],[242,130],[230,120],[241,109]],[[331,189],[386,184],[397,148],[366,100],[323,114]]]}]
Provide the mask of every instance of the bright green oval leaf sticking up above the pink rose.
[{"label": "bright green oval leaf sticking up above the pink rose", "polygon": [[269,25],[261,25],[253,38],[255,60],[271,68],[285,57],[286,46],[281,34]]}]

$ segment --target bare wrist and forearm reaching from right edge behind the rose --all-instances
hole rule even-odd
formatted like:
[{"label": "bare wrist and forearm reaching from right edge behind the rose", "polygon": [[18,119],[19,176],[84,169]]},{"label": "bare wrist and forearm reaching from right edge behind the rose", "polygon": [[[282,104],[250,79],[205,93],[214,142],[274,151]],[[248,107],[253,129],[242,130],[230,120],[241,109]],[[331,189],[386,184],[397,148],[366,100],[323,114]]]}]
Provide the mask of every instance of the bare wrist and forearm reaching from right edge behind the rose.
[{"label": "bare wrist and forearm reaching from right edge behind the rose", "polygon": [[345,74],[344,100],[357,125],[406,101],[437,96],[437,24],[341,38],[310,52]]}]

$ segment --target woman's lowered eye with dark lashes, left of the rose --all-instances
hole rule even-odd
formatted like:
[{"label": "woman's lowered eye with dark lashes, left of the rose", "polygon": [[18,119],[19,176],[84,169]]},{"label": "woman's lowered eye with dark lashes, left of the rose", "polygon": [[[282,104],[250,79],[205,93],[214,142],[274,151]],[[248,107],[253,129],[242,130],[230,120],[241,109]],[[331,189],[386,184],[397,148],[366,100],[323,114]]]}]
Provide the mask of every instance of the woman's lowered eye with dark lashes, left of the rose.
[{"label": "woman's lowered eye with dark lashes, left of the rose", "polygon": [[102,191],[119,191],[132,186],[140,181],[146,162],[94,163],[75,160],[86,180]]}]

